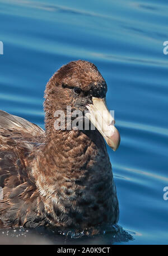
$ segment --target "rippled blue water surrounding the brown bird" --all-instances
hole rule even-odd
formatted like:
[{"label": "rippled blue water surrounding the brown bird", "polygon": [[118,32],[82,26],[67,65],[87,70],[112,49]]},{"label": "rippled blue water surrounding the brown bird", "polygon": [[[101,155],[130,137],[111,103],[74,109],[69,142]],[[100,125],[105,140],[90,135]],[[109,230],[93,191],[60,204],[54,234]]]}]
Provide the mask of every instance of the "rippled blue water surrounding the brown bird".
[{"label": "rippled blue water surrounding the brown bird", "polygon": [[104,243],[168,244],[166,2],[0,0],[0,109],[44,128],[45,84],[71,60],[93,62],[108,83],[121,136],[118,151],[108,148],[119,225],[133,240]]}]

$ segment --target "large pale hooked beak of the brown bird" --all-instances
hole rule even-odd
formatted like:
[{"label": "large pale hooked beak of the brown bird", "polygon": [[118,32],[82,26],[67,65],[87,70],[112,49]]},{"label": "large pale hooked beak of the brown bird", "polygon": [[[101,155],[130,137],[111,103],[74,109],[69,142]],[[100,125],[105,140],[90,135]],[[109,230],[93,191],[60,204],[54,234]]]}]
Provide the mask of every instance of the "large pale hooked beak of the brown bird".
[{"label": "large pale hooked beak of the brown bird", "polygon": [[120,145],[120,134],[114,127],[115,120],[110,114],[104,99],[92,97],[92,104],[87,104],[86,117],[104,137],[108,145],[116,151]]}]

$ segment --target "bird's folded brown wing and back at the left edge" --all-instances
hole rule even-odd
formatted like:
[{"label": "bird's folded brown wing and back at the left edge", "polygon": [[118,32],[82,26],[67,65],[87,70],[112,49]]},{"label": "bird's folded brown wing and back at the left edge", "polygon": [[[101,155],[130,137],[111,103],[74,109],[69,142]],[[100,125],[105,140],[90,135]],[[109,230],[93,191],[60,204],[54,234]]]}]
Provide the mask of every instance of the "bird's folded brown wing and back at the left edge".
[{"label": "bird's folded brown wing and back at the left edge", "polygon": [[45,132],[38,125],[0,111],[0,227],[34,222],[38,193],[31,161],[43,145]]}]

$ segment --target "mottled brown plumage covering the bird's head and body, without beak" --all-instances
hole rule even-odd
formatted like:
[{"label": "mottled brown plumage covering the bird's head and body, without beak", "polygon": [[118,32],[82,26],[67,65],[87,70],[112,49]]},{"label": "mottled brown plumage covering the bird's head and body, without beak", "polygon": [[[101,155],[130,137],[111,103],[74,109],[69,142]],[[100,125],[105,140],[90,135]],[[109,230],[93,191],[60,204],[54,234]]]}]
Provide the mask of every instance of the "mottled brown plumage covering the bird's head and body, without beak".
[{"label": "mottled brown plumage covering the bird's head and body, without beak", "polygon": [[45,132],[0,111],[0,227],[51,225],[80,231],[118,221],[102,135],[97,129],[54,129],[55,110],[64,111],[67,125],[67,105],[85,111],[92,97],[102,99],[106,91],[95,65],[78,60],[61,67],[46,85]]}]

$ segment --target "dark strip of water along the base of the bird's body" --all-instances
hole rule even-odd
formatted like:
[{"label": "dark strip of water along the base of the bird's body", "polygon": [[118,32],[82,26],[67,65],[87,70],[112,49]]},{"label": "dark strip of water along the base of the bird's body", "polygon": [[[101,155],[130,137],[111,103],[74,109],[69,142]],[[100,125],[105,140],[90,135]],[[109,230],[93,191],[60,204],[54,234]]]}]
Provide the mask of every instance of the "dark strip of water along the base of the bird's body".
[{"label": "dark strip of water along the base of the bird's body", "polygon": [[3,229],[0,230],[0,244],[95,244],[110,245],[133,240],[129,232],[120,228],[118,231],[106,234],[81,237],[72,236],[71,232],[59,234],[59,231],[45,227],[36,229]]}]

